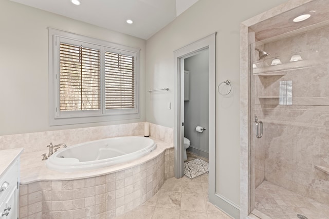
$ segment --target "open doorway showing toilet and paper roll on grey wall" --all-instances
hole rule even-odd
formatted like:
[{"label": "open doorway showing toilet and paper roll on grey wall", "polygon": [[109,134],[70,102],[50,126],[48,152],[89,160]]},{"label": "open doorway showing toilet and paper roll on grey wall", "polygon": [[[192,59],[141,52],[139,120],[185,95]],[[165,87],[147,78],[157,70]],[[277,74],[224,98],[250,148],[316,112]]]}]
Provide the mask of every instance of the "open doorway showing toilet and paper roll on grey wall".
[{"label": "open doorway showing toilet and paper roll on grey wall", "polygon": [[[184,147],[186,152],[184,151],[183,156],[185,162],[197,158],[206,162],[209,160],[208,77],[208,48],[184,59]],[[197,175],[202,172],[201,169],[192,170],[191,174]]]}]

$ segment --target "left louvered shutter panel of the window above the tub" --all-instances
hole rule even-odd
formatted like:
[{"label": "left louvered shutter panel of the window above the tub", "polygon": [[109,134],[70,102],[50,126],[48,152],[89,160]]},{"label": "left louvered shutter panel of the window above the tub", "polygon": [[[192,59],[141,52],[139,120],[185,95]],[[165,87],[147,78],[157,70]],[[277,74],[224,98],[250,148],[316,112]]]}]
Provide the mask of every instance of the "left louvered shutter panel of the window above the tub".
[{"label": "left louvered shutter panel of the window above the tub", "polygon": [[100,54],[97,49],[60,44],[60,110],[100,109]]}]

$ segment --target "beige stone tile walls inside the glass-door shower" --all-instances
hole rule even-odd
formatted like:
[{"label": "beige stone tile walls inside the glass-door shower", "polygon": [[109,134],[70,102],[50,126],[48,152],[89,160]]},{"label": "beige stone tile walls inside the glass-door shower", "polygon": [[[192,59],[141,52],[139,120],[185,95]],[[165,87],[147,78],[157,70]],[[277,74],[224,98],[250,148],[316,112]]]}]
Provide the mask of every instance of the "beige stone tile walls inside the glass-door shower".
[{"label": "beige stone tile walls inside the glass-door shower", "polygon": [[[329,168],[328,36],[324,27],[260,46],[270,57],[281,56],[282,65],[267,68],[285,75],[252,76],[254,113],[263,121],[263,137],[253,140],[255,187],[266,180],[326,205],[329,175],[315,165]],[[289,63],[294,52],[301,52],[303,61]],[[293,81],[293,105],[258,98],[279,96],[280,81]]]}]

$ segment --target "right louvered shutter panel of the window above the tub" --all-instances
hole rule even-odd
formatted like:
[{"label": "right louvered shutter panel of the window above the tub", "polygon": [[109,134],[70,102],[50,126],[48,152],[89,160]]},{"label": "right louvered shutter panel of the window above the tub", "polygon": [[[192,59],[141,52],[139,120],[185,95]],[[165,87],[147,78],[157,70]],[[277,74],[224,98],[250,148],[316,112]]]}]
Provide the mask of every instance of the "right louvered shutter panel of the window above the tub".
[{"label": "right louvered shutter panel of the window above the tub", "polygon": [[134,107],[134,56],[105,52],[105,109]]}]

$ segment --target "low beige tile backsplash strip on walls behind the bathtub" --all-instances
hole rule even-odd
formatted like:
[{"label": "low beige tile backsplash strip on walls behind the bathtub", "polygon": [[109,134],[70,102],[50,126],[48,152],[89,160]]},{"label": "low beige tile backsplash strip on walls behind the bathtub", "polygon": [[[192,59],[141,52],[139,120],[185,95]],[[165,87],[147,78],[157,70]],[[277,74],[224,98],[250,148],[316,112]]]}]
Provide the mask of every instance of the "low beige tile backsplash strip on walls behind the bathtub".
[{"label": "low beige tile backsplash strip on walls behind the bathtub", "polygon": [[[65,143],[67,146],[108,137],[144,135],[144,122],[79,129],[66,129],[0,136],[0,150],[24,147],[24,153],[44,150],[47,145]],[[150,136],[173,144],[172,128],[150,124]]]}]

